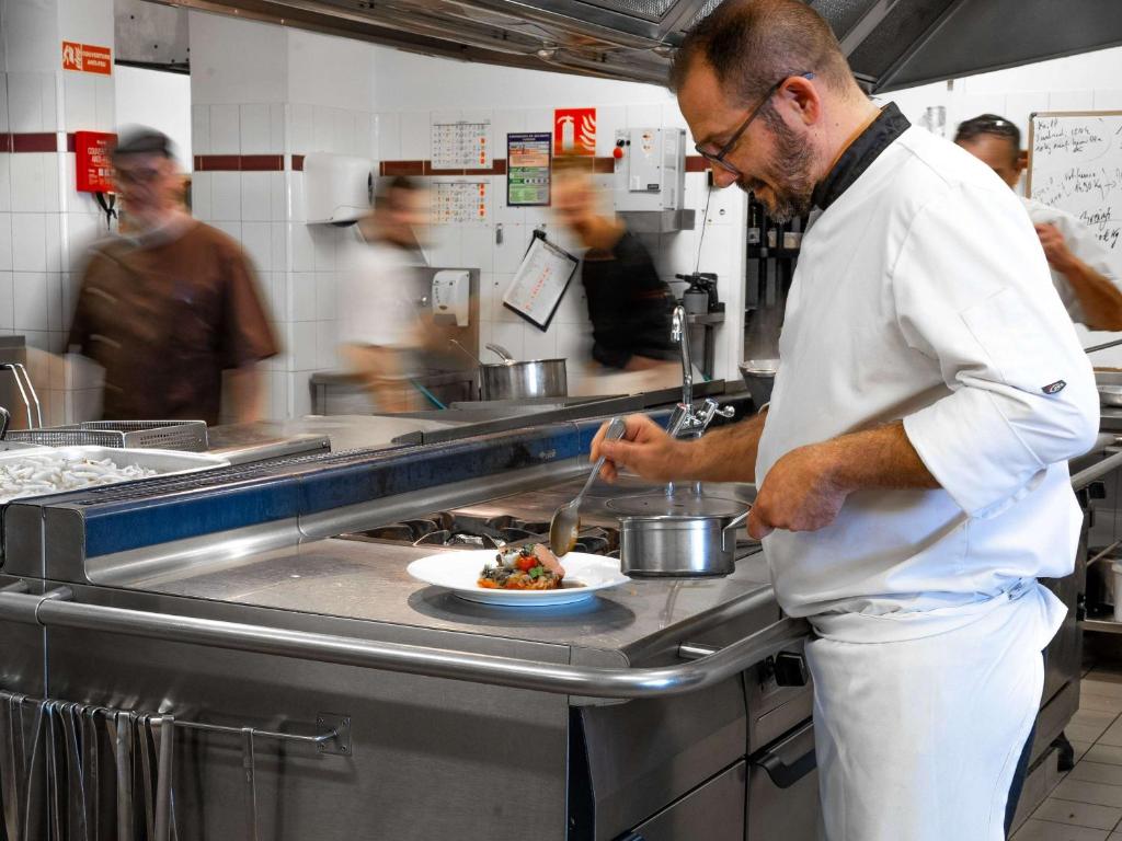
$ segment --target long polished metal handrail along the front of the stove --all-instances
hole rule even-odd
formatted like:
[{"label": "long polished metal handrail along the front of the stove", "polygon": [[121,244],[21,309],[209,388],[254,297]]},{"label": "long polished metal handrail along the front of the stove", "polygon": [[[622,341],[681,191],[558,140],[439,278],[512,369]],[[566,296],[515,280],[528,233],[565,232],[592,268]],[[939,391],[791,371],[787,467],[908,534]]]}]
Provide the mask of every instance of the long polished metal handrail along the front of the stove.
[{"label": "long polished metal handrail along the front of the stove", "polygon": [[573,666],[261,625],[80,604],[65,600],[71,595],[65,590],[45,595],[0,592],[0,619],[38,623],[48,628],[123,634],[469,683],[607,699],[661,697],[701,690],[799,643],[810,632],[806,620],[784,617],[716,654],[690,663],[646,668]]}]

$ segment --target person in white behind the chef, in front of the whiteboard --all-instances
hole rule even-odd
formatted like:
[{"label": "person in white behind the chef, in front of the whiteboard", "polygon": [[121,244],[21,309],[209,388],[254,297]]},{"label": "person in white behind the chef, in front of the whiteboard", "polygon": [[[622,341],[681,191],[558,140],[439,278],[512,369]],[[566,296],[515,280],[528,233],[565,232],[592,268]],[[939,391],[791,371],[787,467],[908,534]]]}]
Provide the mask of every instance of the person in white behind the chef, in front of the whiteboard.
[{"label": "person in white behind the chef, in front of the whiteboard", "polygon": [[[959,123],[955,142],[1017,190],[1027,161],[1015,124],[996,114],[980,114]],[[1028,196],[1021,202],[1072,321],[1089,330],[1122,330],[1122,280],[1094,231],[1067,211]]]}]

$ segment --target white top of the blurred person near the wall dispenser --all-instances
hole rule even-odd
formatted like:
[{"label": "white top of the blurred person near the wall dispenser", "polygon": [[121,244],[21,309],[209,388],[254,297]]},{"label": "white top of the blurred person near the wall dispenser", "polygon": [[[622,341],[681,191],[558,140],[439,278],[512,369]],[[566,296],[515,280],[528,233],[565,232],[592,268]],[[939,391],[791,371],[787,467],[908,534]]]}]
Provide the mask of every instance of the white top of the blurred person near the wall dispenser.
[{"label": "white top of the blurred person near the wall dispenser", "polygon": [[340,344],[406,349],[417,330],[415,297],[420,259],[387,242],[356,241],[343,251],[339,277]]}]

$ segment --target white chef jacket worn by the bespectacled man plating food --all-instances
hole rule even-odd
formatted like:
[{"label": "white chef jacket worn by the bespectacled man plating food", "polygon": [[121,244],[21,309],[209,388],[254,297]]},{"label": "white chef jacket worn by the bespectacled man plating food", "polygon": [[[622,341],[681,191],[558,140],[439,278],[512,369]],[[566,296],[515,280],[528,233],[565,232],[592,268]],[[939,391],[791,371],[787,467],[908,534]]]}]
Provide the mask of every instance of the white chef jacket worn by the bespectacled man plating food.
[{"label": "white chef jacket worn by the bespectacled man plating food", "polygon": [[790,614],[930,611],[1072,572],[1066,461],[1097,433],[1094,377],[1018,197],[969,153],[909,128],[821,213],[780,357],[758,483],[795,447],[903,418],[941,486],[861,490],[830,526],[766,537]]}]

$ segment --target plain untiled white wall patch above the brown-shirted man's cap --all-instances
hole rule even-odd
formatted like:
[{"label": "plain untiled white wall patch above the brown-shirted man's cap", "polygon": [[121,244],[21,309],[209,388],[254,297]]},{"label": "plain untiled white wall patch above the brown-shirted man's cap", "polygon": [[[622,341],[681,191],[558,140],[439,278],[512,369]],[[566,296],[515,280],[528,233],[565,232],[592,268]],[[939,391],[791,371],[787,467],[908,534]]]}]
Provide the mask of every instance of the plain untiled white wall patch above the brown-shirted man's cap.
[{"label": "plain untiled white wall patch above the brown-shirted man's cap", "polygon": [[117,65],[117,124],[147,126],[175,144],[175,156],[191,172],[191,76]]}]

